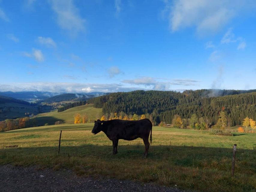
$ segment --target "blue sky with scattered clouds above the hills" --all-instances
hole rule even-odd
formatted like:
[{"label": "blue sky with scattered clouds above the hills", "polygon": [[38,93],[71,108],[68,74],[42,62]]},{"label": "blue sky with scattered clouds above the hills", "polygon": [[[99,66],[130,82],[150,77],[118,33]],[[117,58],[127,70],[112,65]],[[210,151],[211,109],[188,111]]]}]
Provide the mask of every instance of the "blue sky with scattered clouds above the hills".
[{"label": "blue sky with scattered clouds above the hills", "polygon": [[0,91],[255,89],[256,1],[0,0]]}]

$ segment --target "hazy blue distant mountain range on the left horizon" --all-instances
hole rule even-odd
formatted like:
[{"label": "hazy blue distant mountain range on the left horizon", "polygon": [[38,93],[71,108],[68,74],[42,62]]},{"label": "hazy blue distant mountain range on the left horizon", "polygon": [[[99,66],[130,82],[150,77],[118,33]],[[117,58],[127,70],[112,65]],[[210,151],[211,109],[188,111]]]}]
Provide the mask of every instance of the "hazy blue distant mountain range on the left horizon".
[{"label": "hazy blue distant mountain range on the left horizon", "polygon": [[[55,93],[55,92],[47,92],[47,91],[20,91],[20,92],[5,91],[5,92],[0,92],[0,95],[5,96],[5,97],[11,97],[11,98],[23,100],[23,101],[45,100],[45,102],[59,102],[59,101],[71,101],[73,99],[77,99],[74,101],[82,101],[82,100],[86,100],[88,98],[106,95],[106,93],[92,92],[92,93],[73,94],[73,93]],[[58,96],[58,95],[59,95],[59,97],[54,97],[54,96]],[[50,99],[50,98],[52,98],[52,99]],[[66,98],[68,100],[59,100],[62,98]]]}]

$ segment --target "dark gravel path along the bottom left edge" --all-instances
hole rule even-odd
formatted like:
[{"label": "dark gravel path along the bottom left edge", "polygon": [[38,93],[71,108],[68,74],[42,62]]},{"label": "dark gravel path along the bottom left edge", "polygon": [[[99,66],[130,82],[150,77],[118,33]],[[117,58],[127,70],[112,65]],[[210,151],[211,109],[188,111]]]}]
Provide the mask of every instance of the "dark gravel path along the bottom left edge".
[{"label": "dark gravel path along the bottom left edge", "polygon": [[118,179],[76,176],[70,170],[38,170],[36,167],[0,166],[0,191],[170,191],[185,192],[156,184]]}]

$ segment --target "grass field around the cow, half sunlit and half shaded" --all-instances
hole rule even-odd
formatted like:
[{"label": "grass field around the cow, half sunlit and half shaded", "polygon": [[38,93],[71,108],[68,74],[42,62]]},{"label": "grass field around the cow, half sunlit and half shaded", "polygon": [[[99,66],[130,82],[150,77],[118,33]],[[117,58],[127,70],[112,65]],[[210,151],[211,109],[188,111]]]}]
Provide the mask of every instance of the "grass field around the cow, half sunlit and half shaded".
[{"label": "grass field around the cow, half sunlit and half shaded", "polygon": [[[72,110],[72,109],[71,109]],[[67,110],[68,111],[68,110]],[[79,175],[103,175],[200,191],[255,191],[256,134],[215,136],[207,131],[153,127],[149,156],[141,139],[119,140],[118,154],[93,124],[53,125],[0,133],[0,164],[71,169]],[[59,130],[62,143],[58,155]],[[231,177],[233,144],[237,144]],[[3,146],[18,145],[18,148]]]}]

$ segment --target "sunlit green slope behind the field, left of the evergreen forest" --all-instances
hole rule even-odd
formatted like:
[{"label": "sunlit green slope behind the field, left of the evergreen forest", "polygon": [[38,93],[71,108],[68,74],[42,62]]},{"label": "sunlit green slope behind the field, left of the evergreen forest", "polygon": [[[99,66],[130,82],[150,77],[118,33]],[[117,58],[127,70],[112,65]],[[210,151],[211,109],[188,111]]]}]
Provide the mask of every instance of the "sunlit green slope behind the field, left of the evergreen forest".
[{"label": "sunlit green slope behind the field, left of the evergreen forest", "polygon": [[[50,113],[41,113],[35,116],[36,121],[40,122],[47,122],[47,119],[50,121],[63,121],[67,124],[74,123],[74,116],[77,113],[80,113],[81,116],[86,114],[89,119],[96,119],[96,116],[98,113],[101,113],[102,109],[101,108],[94,108],[93,104],[87,104],[87,105],[82,105],[78,107],[73,107],[71,109],[65,110],[63,112],[57,112],[53,111]],[[54,122],[53,122],[54,123]]]}]

